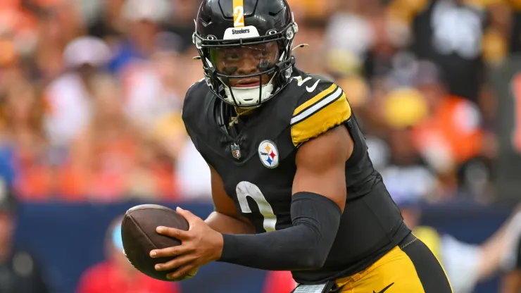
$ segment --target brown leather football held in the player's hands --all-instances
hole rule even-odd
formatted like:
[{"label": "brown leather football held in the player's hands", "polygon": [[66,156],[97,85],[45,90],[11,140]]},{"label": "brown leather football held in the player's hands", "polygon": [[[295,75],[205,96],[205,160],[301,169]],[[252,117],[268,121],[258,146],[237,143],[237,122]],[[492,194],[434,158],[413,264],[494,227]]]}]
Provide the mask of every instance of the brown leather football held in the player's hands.
[{"label": "brown leather football held in the player's hands", "polygon": [[176,211],[156,204],[144,204],[130,208],[123,217],[121,237],[123,249],[134,268],[151,278],[171,281],[166,275],[173,270],[156,270],[157,263],[165,263],[172,258],[151,258],[150,251],[180,245],[179,239],[163,236],[156,227],[175,227],[188,230],[188,222]]}]

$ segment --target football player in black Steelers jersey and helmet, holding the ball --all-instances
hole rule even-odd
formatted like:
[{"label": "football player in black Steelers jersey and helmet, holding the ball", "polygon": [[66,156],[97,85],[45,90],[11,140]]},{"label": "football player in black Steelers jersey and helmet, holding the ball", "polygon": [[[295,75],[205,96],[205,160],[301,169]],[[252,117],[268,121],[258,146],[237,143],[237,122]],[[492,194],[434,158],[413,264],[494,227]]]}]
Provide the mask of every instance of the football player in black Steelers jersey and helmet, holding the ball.
[{"label": "football player in black Steelers jersey and helmet, holding the ball", "polygon": [[[452,292],[372,167],[346,92],[295,67],[285,0],[203,0],[194,44],[204,79],[182,118],[211,168],[215,211],[177,208],[188,231],[157,270],[172,280],[211,261],[291,270],[294,292]],[[403,182],[407,184],[407,182]]]}]

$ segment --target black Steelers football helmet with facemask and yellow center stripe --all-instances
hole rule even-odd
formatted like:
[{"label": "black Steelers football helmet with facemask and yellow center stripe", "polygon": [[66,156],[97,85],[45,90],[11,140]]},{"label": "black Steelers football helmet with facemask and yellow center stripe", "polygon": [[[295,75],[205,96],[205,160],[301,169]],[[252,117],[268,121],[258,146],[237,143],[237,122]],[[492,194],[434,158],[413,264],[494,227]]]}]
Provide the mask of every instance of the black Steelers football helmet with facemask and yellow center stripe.
[{"label": "black Steelers football helmet with facemask and yellow center stripe", "polygon": [[[193,42],[204,79],[226,103],[260,106],[291,81],[295,63],[291,46],[299,28],[286,0],[203,0],[195,23]],[[275,54],[269,51],[273,48]],[[241,57],[243,49],[255,62],[250,72],[233,64],[246,58]],[[232,87],[233,79],[258,82]]]}]

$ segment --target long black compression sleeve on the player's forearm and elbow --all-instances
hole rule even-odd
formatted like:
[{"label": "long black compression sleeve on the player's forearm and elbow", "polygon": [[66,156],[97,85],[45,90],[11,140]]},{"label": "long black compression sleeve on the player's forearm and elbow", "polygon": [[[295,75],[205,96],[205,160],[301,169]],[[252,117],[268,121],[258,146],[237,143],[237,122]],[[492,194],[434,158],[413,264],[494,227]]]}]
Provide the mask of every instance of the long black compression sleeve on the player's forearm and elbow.
[{"label": "long black compression sleeve on the player's forearm and elbow", "polygon": [[319,194],[302,192],[291,203],[293,227],[259,235],[223,235],[219,261],[263,270],[321,268],[340,223],[339,206]]}]

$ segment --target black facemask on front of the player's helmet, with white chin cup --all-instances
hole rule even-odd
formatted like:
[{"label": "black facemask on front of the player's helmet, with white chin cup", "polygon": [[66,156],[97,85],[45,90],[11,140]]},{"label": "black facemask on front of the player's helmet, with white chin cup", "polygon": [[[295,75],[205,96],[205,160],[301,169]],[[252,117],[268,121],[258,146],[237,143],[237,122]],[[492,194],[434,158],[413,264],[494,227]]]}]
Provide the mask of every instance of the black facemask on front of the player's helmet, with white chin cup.
[{"label": "black facemask on front of the player's helmet, with white chin cup", "polygon": [[[194,44],[211,92],[239,108],[254,108],[270,100],[289,83],[294,65],[291,45],[297,30],[294,22],[265,36],[258,36],[253,26],[230,27],[224,39],[196,31]],[[244,38],[234,37],[236,32],[243,32],[239,35]]]}]

